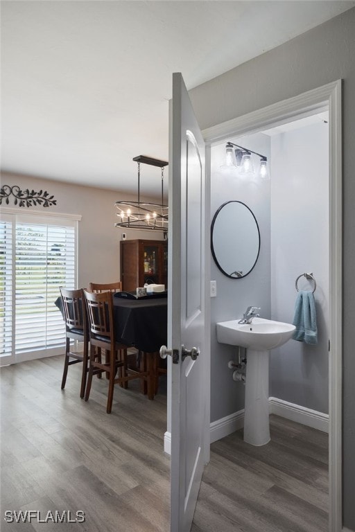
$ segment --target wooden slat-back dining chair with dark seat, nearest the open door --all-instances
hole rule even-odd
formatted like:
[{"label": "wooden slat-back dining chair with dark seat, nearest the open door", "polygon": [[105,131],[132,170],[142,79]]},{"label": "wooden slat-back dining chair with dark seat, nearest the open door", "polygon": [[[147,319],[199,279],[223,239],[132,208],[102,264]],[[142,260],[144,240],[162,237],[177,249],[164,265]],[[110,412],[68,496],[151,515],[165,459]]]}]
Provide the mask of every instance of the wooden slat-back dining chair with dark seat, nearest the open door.
[{"label": "wooden slat-back dining chair with dark seat, nearest the open door", "polygon": [[[84,290],[87,317],[89,320],[89,375],[85,391],[85,401],[89,399],[93,375],[103,372],[107,375],[107,414],[112,410],[114,384],[125,384],[128,380],[140,378],[148,382],[149,371],[133,371],[128,369],[128,346],[117,342],[114,333],[114,305],[112,292],[89,292]],[[101,350],[105,350],[105,362]],[[119,376],[117,372],[119,371]]]}]

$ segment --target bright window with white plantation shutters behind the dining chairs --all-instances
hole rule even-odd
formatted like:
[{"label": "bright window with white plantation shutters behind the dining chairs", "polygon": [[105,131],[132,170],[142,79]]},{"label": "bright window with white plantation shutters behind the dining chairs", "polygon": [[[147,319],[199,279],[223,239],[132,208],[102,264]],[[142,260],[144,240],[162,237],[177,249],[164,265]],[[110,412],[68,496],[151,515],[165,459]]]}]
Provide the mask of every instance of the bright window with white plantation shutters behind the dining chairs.
[{"label": "bright window with white plantation shutters behind the dining chairs", "polygon": [[77,228],[75,216],[1,214],[1,364],[62,352],[55,299],[60,286],[76,287]]}]

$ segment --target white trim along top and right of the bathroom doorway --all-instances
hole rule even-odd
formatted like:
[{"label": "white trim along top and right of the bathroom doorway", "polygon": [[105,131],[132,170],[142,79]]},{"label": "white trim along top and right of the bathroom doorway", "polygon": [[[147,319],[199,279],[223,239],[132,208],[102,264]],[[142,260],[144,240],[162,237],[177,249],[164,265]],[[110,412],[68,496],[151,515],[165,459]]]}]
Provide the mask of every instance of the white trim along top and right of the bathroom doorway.
[{"label": "white trim along top and right of the bathroom doorway", "polygon": [[282,100],[202,131],[207,145],[266,130],[329,109],[329,531],[343,525],[343,178],[342,80]]}]

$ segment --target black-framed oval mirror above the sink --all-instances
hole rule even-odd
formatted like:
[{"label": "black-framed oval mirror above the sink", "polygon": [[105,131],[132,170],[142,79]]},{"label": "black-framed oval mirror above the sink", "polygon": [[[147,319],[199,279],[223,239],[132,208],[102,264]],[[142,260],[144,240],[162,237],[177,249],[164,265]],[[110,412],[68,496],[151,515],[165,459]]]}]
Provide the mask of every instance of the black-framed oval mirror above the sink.
[{"label": "black-framed oval mirror above the sink", "polygon": [[248,206],[236,201],[220,206],[212,220],[211,251],[227,277],[238,279],[252,271],[259,256],[260,232]]}]

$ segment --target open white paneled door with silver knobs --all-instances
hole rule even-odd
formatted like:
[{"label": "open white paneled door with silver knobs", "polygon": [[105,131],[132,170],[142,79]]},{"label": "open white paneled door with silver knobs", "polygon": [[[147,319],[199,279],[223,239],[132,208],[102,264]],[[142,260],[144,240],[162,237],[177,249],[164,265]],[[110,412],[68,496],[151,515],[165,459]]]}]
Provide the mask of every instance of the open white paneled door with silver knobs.
[{"label": "open white paneled door with silver knobs", "polygon": [[[168,201],[168,347],[173,350],[169,363],[171,532],[190,530],[203,467],[209,460],[209,218],[207,221],[205,190],[205,143],[184,80],[174,73]],[[184,357],[182,346],[192,353]]]}]

